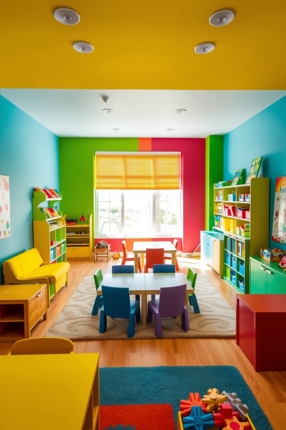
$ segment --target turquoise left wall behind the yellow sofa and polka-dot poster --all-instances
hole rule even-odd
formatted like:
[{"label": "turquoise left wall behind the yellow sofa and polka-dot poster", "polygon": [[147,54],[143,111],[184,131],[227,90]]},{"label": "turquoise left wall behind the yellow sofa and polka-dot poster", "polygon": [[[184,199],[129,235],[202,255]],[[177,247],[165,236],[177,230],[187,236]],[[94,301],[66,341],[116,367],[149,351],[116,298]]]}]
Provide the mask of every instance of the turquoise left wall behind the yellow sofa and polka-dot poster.
[{"label": "turquoise left wall behind the yellow sofa and polka-dot poster", "polygon": [[33,248],[33,188],[59,188],[58,137],[0,95],[0,175],[10,180],[11,237],[0,240],[2,263]]}]

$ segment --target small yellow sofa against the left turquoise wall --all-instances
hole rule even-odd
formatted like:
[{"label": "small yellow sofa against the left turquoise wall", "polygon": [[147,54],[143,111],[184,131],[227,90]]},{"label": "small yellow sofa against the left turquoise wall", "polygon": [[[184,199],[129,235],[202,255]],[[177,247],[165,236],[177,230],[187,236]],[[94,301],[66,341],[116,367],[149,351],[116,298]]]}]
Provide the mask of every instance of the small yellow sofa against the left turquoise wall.
[{"label": "small yellow sofa against the left turquoise wall", "polygon": [[47,306],[59,289],[68,285],[69,263],[44,263],[36,248],[29,249],[3,262],[4,283],[47,284]]}]

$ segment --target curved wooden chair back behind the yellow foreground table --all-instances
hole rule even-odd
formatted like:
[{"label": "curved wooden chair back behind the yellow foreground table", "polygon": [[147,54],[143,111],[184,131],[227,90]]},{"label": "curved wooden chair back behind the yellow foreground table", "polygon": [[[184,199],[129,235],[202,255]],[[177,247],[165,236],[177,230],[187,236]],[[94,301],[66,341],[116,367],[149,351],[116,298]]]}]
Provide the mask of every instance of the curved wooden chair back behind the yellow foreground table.
[{"label": "curved wooden chair back behind the yellow foreground table", "polygon": [[65,338],[47,337],[22,339],[12,345],[11,355],[26,354],[73,354],[73,343]]}]

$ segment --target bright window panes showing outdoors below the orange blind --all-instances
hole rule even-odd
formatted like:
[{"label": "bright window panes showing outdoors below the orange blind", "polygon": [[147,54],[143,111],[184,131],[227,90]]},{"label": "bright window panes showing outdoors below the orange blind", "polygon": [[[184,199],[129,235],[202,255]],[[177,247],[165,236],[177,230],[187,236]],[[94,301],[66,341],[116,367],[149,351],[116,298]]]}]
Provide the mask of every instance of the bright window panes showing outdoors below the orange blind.
[{"label": "bright window panes showing outdoors below the orange blind", "polygon": [[179,236],[180,190],[97,190],[97,236]]}]

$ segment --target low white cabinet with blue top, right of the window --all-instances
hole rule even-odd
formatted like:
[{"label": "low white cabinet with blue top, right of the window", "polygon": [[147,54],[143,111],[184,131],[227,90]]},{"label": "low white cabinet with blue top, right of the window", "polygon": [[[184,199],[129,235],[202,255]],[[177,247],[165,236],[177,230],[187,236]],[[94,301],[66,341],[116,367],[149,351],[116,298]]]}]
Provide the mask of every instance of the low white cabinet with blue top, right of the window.
[{"label": "low white cabinet with blue top, right of the window", "polygon": [[201,231],[201,261],[211,266],[223,277],[223,234],[214,231]]}]

